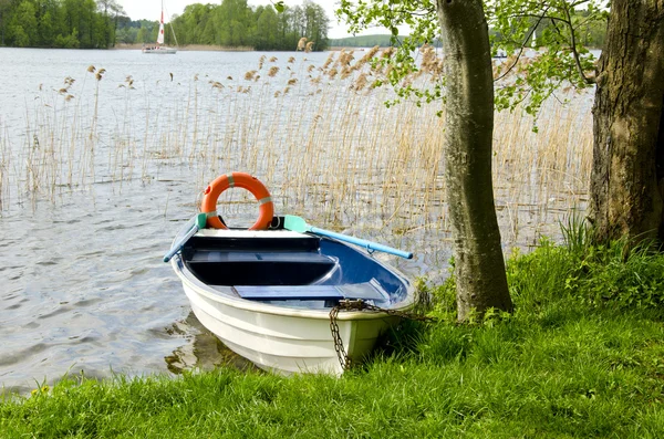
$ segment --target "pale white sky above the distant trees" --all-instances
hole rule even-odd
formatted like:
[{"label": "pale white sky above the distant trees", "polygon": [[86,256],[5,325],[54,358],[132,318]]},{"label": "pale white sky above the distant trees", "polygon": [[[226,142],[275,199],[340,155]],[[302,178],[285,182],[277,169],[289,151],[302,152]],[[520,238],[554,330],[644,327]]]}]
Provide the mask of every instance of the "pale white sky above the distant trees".
[{"label": "pale white sky above the distant trees", "polygon": [[[162,0],[117,0],[117,2],[124,8],[125,12],[132,20],[159,20],[160,9],[162,9]],[[346,29],[347,27],[344,24],[339,24],[336,19],[334,18],[334,4],[336,0],[314,0],[314,3],[318,3],[323,7],[328,18],[330,19],[330,30],[328,32],[328,38],[344,38],[351,36]],[[164,0],[164,20],[168,21],[168,17],[175,14],[181,14],[185,10],[185,7],[193,3],[214,3],[220,4],[221,0]],[[250,7],[257,7],[260,4],[270,4],[269,0],[248,0]],[[302,4],[302,0],[284,0],[284,3],[290,7],[294,7],[297,4]],[[363,33],[387,33],[385,30],[373,30],[370,32]]]}]

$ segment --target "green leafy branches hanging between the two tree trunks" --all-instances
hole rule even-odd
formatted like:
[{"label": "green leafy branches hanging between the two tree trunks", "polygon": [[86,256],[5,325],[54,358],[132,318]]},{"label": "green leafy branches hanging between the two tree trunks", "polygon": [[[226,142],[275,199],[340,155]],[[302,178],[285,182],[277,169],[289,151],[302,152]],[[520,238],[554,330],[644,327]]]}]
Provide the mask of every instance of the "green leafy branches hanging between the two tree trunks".
[{"label": "green leafy branches hanging between the two tree trunks", "polygon": [[[542,102],[557,90],[569,86],[582,90],[593,84],[594,79],[588,72],[593,70],[594,58],[583,44],[592,43],[591,27],[605,25],[605,3],[602,0],[487,2],[487,19],[496,32],[494,51],[509,54],[496,70],[497,79],[501,80],[496,87],[496,108],[513,108],[526,102],[526,112],[537,115]],[[587,9],[578,10],[582,6]],[[528,49],[537,52],[530,53]]]}]

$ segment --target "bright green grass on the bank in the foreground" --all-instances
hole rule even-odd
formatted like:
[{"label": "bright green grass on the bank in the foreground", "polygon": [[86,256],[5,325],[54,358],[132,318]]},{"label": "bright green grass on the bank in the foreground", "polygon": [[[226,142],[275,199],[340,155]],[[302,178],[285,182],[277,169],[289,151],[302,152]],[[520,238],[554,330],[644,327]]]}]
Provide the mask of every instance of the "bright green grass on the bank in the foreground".
[{"label": "bright green grass on the bank in the foreground", "polygon": [[340,379],[72,377],[6,397],[0,437],[664,437],[663,269],[647,250],[543,242],[508,263],[512,315],[453,323],[452,279],[432,289],[438,323],[405,324]]}]

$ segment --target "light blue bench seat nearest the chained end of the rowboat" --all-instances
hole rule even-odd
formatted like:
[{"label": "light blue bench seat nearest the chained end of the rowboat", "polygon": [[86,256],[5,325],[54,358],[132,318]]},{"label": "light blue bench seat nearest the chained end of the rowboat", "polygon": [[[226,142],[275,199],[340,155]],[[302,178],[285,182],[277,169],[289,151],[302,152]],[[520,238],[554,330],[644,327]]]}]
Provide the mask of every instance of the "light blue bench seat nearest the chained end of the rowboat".
[{"label": "light blue bench seat nearest the chained end of the rowboat", "polygon": [[341,301],[343,299],[387,300],[371,282],[353,285],[236,285],[240,297],[251,301]]}]

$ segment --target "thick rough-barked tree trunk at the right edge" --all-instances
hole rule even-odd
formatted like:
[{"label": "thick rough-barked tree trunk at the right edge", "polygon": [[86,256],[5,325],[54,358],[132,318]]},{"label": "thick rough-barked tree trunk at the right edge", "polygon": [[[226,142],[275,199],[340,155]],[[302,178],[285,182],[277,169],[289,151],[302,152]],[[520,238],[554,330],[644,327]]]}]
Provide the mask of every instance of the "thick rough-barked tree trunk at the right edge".
[{"label": "thick rough-barked tree trunk at the right edge", "polygon": [[664,238],[664,0],[613,0],[598,64],[590,219],[599,241]]}]

